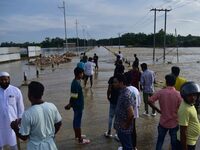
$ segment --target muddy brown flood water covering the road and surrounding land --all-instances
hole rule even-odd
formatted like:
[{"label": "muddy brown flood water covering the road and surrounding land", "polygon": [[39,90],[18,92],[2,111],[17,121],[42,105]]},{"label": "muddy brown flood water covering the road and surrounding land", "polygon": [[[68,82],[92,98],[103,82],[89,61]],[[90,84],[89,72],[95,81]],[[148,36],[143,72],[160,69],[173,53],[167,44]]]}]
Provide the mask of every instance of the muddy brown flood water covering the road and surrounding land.
[{"label": "muddy brown flood water covering the road and surrounding land", "polygon": [[[118,49],[110,49],[112,52],[117,52]],[[133,49],[121,49],[125,59],[134,60],[133,55],[137,53],[140,63],[148,62],[149,68],[156,72],[158,81],[164,81],[165,74],[170,72],[172,65],[178,65],[181,68],[181,75],[188,80],[199,80],[200,65],[196,61],[199,57],[198,48],[183,49],[180,53],[180,62],[176,63],[174,60],[172,64],[168,64],[168,56],[166,57],[166,63],[158,61],[158,63],[152,63],[152,49],[146,48],[133,48]],[[11,74],[11,81],[16,85],[21,85],[23,81],[23,72],[27,71],[28,79],[37,80],[44,84],[45,93],[43,100],[53,102],[62,116],[62,127],[56,135],[56,145],[59,150],[117,150],[120,143],[114,138],[108,139],[103,136],[108,127],[108,113],[109,102],[106,98],[106,91],[108,86],[108,79],[113,75],[115,56],[110,51],[103,47],[95,47],[93,50],[87,52],[89,57],[92,57],[96,53],[99,56],[99,70],[94,74],[94,85],[89,87],[89,83],[83,88],[85,108],[82,119],[82,131],[91,140],[89,145],[78,145],[74,139],[74,132],[72,128],[73,111],[64,110],[64,106],[68,103],[70,97],[70,84],[74,78],[73,69],[79,61],[79,57],[74,57],[72,62],[61,64],[52,70],[51,67],[47,67],[44,70],[40,70],[39,78],[36,78],[35,66],[27,66],[26,60],[11,62],[6,64],[0,64],[0,70],[8,71]],[[156,53],[156,58],[162,55]],[[174,55],[174,54],[173,54]],[[182,57],[183,56],[183,57]],[[187,59],[186,59],[187,58]],[[190,58],[188,60],[188,58]],[[126,70],[130,67],[125,64]],[[24,103],[26,108],[30,106],[30,102],[27,99],[27,86],[21,86],[22,94],[24,96]],[[140,107],[140,118],[136,120],[137,131],[137,149],[138,150],[154,150],[157,140],[157,125],[159,122],[159,115],[156,117],[143,116],[144,112],[143,102]],[[112,133],[115,131],[112,129]],[[169,149],[170,138],[166,136],[163,145],[163,150]],[[26,149],[26,142],[21,142],[21,149]],[[200,141],[197,143],[196,149],[200,149]]]}]

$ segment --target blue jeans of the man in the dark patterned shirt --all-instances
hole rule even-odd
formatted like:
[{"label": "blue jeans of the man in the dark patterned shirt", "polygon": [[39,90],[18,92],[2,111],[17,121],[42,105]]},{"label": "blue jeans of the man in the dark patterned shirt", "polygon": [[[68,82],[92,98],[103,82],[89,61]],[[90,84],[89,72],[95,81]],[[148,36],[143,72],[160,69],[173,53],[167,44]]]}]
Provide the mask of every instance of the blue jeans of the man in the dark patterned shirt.
[{"label": "blue jeans of the man in the dark patterned shirt", "polygon": [[133,134],[117,131],[123,150],[133,150]]}]

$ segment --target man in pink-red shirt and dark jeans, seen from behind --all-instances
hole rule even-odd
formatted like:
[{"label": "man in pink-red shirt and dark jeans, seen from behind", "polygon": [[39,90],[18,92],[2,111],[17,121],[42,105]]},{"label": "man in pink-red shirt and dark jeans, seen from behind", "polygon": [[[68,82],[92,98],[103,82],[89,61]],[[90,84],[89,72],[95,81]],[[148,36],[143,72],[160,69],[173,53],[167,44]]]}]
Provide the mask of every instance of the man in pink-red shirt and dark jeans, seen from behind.
[{"label": "man in pink-red shirt and dark jeans, seen from behind", "polygon": [[[165,76],[166,88],[156,92],[149,98],[149,105],[160,113],[160,122],[158,125],[158,139],[156,150],[161,150],[166,133],[169,131],[171,137],[172,150],[176,149],[177,131],[178,131],[178,108],[181,104],[181,95],[174,88],[176,78],[169,74]],[[160,109],[154,105],[158,101]]]}]

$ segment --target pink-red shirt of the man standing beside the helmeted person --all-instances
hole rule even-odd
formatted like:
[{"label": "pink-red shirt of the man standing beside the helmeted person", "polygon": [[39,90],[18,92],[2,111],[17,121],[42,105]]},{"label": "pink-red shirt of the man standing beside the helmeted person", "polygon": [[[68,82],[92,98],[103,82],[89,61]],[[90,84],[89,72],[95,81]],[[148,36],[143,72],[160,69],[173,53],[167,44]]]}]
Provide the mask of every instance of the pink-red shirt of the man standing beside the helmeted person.
[{"label": "pink-red shirt of the man standing beside the helmeted person", "polygon": [[159,90],[149,98],[150,102],[159,102],[161,116],[160,125],[164,128],[174,128],[178,125],[178,108],[181,104],[181,95],[174,87]]}]

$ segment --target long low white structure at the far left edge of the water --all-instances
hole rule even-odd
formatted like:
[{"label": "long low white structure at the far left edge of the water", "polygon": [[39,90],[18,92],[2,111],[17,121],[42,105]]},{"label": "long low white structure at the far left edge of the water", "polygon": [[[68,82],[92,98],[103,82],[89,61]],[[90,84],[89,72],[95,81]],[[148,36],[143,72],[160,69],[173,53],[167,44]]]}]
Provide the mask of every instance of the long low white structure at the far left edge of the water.
[{"label": "long low white structure at the far left edge of the water", "polygon": [[19,47],[0,47],[0,62],[20,60]]}]

